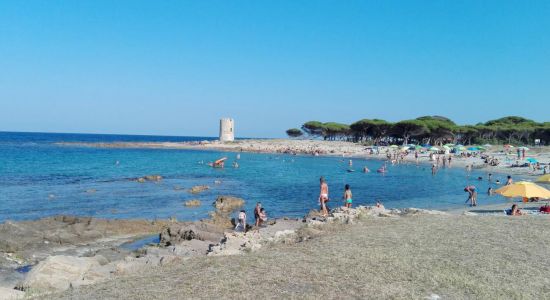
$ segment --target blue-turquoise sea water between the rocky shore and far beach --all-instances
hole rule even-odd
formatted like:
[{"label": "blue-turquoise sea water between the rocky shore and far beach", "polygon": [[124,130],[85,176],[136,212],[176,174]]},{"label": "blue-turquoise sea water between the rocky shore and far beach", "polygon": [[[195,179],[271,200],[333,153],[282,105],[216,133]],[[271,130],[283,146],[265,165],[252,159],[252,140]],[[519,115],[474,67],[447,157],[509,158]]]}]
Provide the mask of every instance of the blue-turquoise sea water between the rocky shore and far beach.
[{"label": "blue-turquoise sea water between the rocky shore and far beach", "polygon": [[[248,211],[261,201],[272,217],[303,216],[317,208],[321,175],[328,180],[332,207],[342,203],[346,183],[352,187],[354,205],[380,200],[389,208],[458,208],[464,206],[467,184],[478,187],[479,204],[505,201],[486,195],[489,183],[477,180],[486,178],[485,173],[474,171],[467,177],[462,168],[442,169],[431,176],[429,166],[390,165],[385,175],[364,174],[363,166],[376,170],[382,162],[354,159],[356,172],[350,173],[347,160],[338,157],[241,153],[240,168],[233,169],[236,153],[55,144],[205,139],[209,138],[0,132],[0,222],[57,214],[195,220],[207,217],[215,197],[224,194],[244,198]],[[229,157],[225,169],[206,165],[222,156]],[[164,180],[130,180],[149,174],[160,174]],[[505,176],[494,175],[494,179],[504,181]],[[211,189],[199,195],[185,190],[202,184]],[[200,207],[183,206],[184,201],[197,198],[202,200]]]}]

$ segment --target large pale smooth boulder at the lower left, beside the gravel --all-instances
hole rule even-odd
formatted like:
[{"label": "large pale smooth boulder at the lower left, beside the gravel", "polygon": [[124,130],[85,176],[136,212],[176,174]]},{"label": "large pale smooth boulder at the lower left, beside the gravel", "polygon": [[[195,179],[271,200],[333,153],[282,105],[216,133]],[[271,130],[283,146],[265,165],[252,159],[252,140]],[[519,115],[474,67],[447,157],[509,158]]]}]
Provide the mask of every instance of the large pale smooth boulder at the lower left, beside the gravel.
[{"label": "large pale smooth boulder at the lower left, beside the gravel", "polygon": [[70,287],[96,283],[110,277],[95,257],[50,256],[29,272],[17,285],[20,290],[63,291]]}]

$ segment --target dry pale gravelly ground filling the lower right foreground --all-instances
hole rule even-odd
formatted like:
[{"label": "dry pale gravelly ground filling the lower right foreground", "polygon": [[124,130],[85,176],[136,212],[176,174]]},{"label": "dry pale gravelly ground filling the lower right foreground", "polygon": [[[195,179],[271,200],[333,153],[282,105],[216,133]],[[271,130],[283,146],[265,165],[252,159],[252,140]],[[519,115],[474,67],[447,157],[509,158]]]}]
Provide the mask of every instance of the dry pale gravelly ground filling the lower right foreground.
[{"label": "dry pale gravelly ground filling the lower right foreground", "polygon": [[366,217],[301,243],[207,257],[53,299],[548,299],[550,218]]}]

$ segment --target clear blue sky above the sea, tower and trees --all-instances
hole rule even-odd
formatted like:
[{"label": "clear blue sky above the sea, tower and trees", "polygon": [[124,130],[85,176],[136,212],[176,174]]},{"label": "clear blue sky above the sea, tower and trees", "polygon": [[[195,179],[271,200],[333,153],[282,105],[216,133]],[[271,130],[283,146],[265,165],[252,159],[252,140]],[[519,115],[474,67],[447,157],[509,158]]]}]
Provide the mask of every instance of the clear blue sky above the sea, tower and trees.
[{"label": "clear blue sky above the sea, tower and trees", "polygon": [[549,121],[550,1],[0,1],[0,130]]}]

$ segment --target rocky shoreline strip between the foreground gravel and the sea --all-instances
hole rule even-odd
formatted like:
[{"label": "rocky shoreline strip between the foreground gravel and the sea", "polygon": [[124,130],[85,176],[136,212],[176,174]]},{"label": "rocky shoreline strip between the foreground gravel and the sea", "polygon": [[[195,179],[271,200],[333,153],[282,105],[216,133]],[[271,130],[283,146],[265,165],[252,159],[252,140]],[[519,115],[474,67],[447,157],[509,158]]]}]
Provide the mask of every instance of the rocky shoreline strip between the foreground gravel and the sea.
[{"label": "rocky shoreline strip between the foreground gravel and the sea", "polygon": [[[198,222],[71,216],[6,222],[0,225],[0,265],[4,272],[1,285],[4,293],[0,294],[9,295],[10,299],[41,297],[152,268],[181,264],[193,257],[246,254],[272,244],[305,240],[304,230],[312,234],[317,226],[352,224],[367,215],[439,214],[414,209],[338,208],[326,218],[312,212],[303,219],[274,219],[246,233],[234,232],[235,220],[231,214],[243,204],[243,199],[219,196],[212,203],[215,209],[212,218]],[[158,243],[138,249],[122,247],[125,242],[151,234],[158,235]],[[14,272],[21,267],[28,267],[30,271]]]}]

